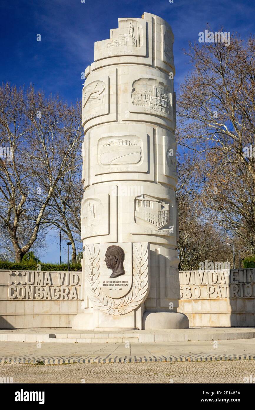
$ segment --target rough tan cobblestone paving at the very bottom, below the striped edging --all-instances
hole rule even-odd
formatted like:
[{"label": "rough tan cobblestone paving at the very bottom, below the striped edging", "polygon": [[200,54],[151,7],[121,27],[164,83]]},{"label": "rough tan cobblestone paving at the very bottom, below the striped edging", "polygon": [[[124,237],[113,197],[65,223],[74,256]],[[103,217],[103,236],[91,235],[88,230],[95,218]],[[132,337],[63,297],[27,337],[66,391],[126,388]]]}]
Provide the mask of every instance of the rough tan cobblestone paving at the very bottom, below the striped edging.
[{"label": "rough tan cobblestone paving at the very bottom, below the striped edging", "polygon": [[227,362],[0,364],[13,383],[244,383],[253,360]]}]

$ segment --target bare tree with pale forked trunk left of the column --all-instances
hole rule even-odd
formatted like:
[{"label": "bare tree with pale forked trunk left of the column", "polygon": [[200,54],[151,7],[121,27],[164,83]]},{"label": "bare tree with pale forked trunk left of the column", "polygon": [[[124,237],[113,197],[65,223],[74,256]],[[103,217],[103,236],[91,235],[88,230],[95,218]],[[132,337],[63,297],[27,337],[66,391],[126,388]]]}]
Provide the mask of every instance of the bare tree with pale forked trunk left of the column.
[{"label": "bare tree with pale forked trunk left of the column", "polygon": [[[44,228],[59,180],[74,167],[80,106],[68,107],[58,96],[47,99],[32,87],[24,95],[23,89],[3,85],[0,135],[0,221],[20,262]],[[19,237],[23,229],[25,242]]]}]

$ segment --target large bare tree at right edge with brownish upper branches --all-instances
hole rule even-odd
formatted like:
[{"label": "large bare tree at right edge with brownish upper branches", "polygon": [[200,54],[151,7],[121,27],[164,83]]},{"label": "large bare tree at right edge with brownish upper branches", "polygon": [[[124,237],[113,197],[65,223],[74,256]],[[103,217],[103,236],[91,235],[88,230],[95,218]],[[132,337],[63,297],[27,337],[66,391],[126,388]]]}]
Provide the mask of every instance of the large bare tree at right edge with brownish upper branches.
[{"label": "large bare tree at right edge with brownish upper branches", "polygon": [[208,220],[254,253],[255,39],[194,44],[188,55],[194,71],[178,98],[179,143],[199,156]]}]

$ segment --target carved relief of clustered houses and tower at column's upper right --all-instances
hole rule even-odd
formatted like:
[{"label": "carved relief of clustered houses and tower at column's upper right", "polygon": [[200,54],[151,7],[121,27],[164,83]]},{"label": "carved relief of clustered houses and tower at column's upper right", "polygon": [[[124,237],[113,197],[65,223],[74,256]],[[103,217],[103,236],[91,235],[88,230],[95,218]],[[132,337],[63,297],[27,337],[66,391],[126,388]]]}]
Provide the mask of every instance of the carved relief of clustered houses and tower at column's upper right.
[{"label": "carved relief of clustered houses and tower at column's upper right", "polygon": [[172,93],[169,86],[153,78],[140,78],[133,83],[132,103],[135,106],[172,114]]}]

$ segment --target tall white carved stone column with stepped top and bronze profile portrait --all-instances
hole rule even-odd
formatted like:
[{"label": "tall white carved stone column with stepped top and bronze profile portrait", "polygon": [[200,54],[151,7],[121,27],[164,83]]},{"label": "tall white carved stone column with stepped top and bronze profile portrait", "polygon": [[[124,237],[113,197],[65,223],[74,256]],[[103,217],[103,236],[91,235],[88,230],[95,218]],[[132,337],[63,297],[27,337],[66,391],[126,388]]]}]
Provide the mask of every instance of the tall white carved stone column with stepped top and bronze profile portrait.
[{"label": "tall white carved stone column with stepped top and bronze profile portrait", "polygon": [[83,87],[84,313],[76,329],[184,328],[176,211],[174,36],[119,18]]}]

